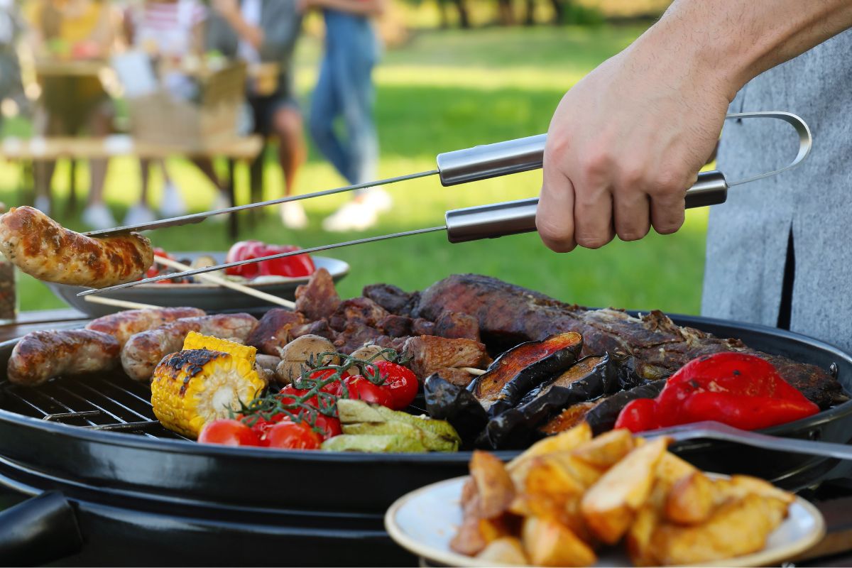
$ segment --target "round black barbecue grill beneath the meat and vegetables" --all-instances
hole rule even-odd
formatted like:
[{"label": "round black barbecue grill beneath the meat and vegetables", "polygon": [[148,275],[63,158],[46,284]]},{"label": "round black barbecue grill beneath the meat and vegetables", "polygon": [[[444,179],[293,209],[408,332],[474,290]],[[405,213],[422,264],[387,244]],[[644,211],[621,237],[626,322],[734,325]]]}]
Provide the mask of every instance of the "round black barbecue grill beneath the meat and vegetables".
[{"label": "round black barbecue grill beneath the meat and vegetables", "polygon": [[[831,368],[852,393],[852,357],[824,342],[751,324],[673,319]],[[14,343],[0,344],[0,369]],[[767,432],[849,442],[852,401]],[[845,473],[835,460],[716,441],[686,442],[675,450],[701,468],[756,474],[790,489]],[[199,445],[160,426],[147,385],[121,373],[62,378],[37,388],[4,381],[0,484],[27,496],[61,496],[0,514],[0,534],[10,535],[0,536],[0,556],[14,550],[32,554],[19,556],[22,562],[61,558],[66,565],[412,564],[383,531],[384,510],[407,491],[463,475],[468,460],[469,452],[371,455]],[[12,535],[3,523],[9,526],[13,514],[19,525],[33,517],[50,522]],[[82,544],[69,536],[75,531]]]}]

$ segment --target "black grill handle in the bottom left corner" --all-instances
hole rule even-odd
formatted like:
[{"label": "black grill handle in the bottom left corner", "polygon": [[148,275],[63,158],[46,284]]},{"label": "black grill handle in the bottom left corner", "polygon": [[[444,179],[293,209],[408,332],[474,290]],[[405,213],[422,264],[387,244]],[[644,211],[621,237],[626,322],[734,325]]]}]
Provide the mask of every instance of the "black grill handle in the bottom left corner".
[{"label": "black grill handle in the bottom left corner", "polygon": [[0,513],[3,565],[37,566],[79,552],[83,536],[71,503],[46,491]]}]

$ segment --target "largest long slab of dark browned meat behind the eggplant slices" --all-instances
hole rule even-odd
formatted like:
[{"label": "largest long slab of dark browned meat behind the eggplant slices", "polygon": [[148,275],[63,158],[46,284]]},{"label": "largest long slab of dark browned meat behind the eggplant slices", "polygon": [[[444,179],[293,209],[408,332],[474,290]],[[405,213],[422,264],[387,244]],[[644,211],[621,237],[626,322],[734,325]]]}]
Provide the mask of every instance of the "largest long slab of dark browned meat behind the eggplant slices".
[{"label": "largest long slab of dark browned meat behind the eggplant slices", "polygon": [[483,341],[499,347],[577,331],[583,335],[583,354],[632,356],[637,374],[651,380],[670,376],[699,355],[753,353],[773,363],[787,382],[820,408],[845,399],[840,384],[815,365],[760,353],[735,339],[680,327],[661,312],[634,318],[614,309],[590,310],[476,274],[456,274],[423,290],[415,315],[434,319],[446,310],[476,318]]}]

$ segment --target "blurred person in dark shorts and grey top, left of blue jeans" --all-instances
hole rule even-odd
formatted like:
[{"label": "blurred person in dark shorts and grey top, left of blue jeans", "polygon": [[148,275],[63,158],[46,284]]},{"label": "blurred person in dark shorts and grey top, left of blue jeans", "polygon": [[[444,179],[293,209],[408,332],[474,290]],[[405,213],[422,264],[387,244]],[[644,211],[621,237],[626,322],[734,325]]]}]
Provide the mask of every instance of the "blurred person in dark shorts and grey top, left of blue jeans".
[{"label": "blurred person in dark shorts and grey top, left of blue jeans", "polygon": [[[256,133],[278,139],[285,195],[289,196],[306,154],[302,112],[296,102],[292,72],[293,49],[302,28],[302,14],[296,0],[213,0],[212,5],[216,17],[210,20],[207,41],[210,49],[249,64],[279,66],[277,86],[271,94],[262,94],[256,83],[250,81],[246,98]],[[285,227],[300,229],[308,225],[308,217],[298,202],[281,204],[280,213]]]}]

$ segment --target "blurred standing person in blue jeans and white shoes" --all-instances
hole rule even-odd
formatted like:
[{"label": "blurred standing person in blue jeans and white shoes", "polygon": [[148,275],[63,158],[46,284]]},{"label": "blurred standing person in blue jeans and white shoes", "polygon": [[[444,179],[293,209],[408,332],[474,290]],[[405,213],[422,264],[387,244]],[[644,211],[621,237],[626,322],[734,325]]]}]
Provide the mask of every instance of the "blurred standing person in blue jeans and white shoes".
[{"label": "blurred standing person in blue jeans and white shoes", "polygon": [[[325,20],[325,56],[314,88],[308,127],[314,143],[350,184],[376,179],[378,137],[373,122],[372,68],[380,46],[371,17],[382,14],[385,0],[301,0],[302,9],[321,9]],[[343,119],[346,136],[334,129]],[[326,231],[362,230],[390,208],[388,192],[376,187],[354,198],[323,220]]]}]

